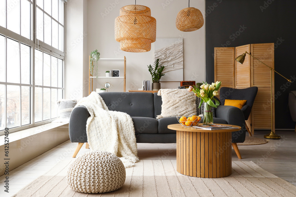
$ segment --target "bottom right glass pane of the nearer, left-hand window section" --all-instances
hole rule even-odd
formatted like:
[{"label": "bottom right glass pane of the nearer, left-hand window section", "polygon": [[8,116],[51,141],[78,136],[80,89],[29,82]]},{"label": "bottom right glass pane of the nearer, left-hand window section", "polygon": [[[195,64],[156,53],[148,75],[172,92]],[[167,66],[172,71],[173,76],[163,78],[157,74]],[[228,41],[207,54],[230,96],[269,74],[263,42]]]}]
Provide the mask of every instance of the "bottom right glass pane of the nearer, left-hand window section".
[{"label": "bottom right glass pane of the nearer, left-hand window section", "polygon": [[30,124],[30,87],[22,86],[22,125]]}]

